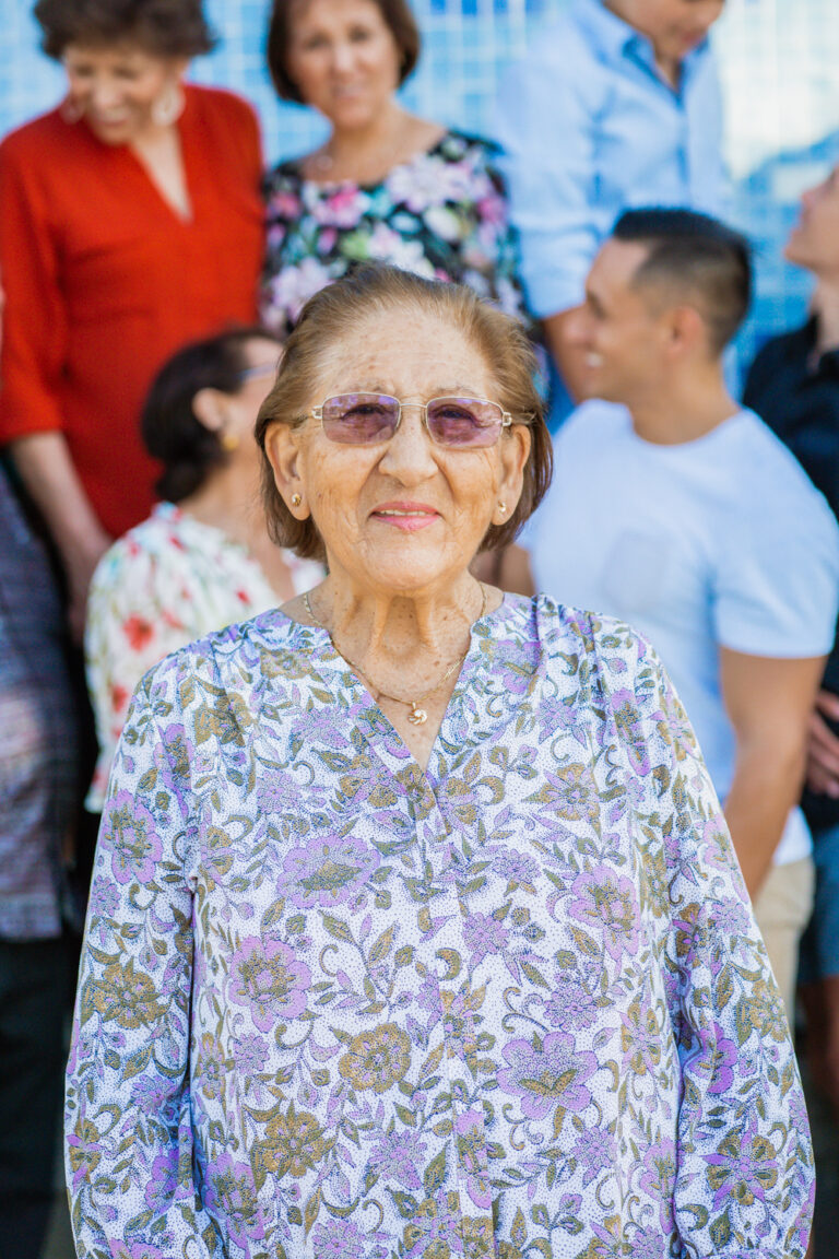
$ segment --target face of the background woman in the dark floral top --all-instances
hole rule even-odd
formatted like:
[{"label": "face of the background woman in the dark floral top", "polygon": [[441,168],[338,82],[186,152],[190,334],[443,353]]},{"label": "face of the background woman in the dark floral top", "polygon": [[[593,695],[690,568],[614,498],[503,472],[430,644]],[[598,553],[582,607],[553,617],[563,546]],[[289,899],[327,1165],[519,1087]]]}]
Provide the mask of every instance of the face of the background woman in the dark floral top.
[{"label": "face of the background woman in the dark floral top", "polygon": [[399,86],[399,48],[375,0],[297,0],[288,74],[333,126],[366,126]]}]

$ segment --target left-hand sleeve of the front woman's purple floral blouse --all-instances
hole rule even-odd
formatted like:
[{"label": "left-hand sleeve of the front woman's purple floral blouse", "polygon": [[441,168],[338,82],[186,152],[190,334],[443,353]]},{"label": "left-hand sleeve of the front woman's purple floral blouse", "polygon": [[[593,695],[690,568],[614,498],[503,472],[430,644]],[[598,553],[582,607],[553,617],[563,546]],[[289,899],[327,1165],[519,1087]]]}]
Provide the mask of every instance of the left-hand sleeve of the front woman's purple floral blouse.
[{"label": "left-hand sleeve of the front woman's purple floral blouse", "polygon": [[194,886],[175,699],[171,666],[138,690],[99,831],[67,1078],[79,1255],[221,1255],[190,1124]]}]

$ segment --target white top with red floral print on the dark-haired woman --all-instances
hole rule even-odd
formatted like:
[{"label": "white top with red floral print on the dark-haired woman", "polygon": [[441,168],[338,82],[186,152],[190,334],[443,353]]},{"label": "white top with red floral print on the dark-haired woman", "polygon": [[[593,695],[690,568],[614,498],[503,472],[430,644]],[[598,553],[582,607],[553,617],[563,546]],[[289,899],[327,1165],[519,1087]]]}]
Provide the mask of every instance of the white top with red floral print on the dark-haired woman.
[{"label": "white top with red floral print on the dark-haired woman", "polygon": [[[302,594],[319,564],[284,553]],[[239,543],[172,502],[119,538],[99,560],[87,609],[84,655],[99,755],[86,806],[104,803],[111,762],[142,675],[171,651],[274,607],[262,568]]]}]

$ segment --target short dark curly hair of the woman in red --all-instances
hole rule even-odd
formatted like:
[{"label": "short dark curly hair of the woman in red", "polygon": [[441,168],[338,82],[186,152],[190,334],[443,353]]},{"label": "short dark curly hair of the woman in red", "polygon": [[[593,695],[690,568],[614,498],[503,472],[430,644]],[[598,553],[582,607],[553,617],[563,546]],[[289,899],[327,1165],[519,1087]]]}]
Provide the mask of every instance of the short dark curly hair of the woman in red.
[{"label": "short dark curly hair of the woman in red", "polygon": [[136,44],[156,57],[209,53],[215,37],[201,0],[38,0],[42,48],[59,60],[70,44]]}]

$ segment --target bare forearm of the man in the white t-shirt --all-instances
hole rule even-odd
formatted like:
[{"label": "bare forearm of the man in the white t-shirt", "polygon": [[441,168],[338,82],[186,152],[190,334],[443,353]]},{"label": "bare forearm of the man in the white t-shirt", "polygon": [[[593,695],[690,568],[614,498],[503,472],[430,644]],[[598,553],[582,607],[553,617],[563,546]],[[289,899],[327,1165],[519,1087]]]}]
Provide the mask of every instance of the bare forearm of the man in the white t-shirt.
[{"label": "bare forearm of the man in the white t-shirt", "polygon": [[777,660],[721,648],[722,696],[737,742],[725,813],[752,899],[801,792],[823,670],[821,656]]}]

